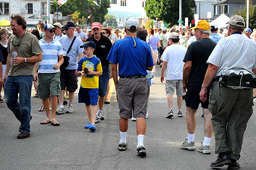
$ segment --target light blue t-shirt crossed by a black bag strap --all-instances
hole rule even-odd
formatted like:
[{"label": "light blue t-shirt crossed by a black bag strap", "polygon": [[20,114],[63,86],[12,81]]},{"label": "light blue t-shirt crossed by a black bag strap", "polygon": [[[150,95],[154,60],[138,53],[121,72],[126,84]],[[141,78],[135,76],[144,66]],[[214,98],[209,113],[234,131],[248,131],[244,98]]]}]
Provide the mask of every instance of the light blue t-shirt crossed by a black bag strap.
[{"label": "light blue t-shirt crossed by a black bag strap", "polygon": [[[63,49],[63,56],[66,56],[66,53],[68,51],[68,48],[69,48],[72,40],[73,39],[68,38],[68,36],[62,36],[60,38],[60,43],[61,43],[62,49]],[[82,40],[80,38],[76,38],[76,40],[74,41],[74,44],[71,47],[70,52],[67,55],[70,59],[68,60],[69,64],[65,69],[67,69],[67,70],[77,69],[78,54],[84,52],[84,48],[80,48],[80,46],[82,46],[82,45],[84,45]]]}]

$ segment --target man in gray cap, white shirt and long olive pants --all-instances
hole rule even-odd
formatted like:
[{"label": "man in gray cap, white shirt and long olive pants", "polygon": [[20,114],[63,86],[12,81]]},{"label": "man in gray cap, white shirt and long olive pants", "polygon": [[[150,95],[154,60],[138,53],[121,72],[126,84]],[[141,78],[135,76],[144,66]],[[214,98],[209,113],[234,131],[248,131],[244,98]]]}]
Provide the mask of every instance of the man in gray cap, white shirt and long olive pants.
[{"label": "man in gray cap, white shirt and long olive pants", "polygon": [[[217,78],[210,90],[209,110],[215,136],[215,153],[219,154],[211,167],[228,165],[228,170],[240,168],[244,132],[252,116],[252,76],[246,81],[238,74],[256,74],[256,44],[242,35],[245,22],[233,15],[228,24],[228,37],[222,38],[207,60],[209,64],[202,84],[200,99],[206,102],[207,87]],[[233,75],[233,76],[230,76]],[[234,78],[238,76],[238,78]],[[238,85],[227,82],[237,82]]]}]

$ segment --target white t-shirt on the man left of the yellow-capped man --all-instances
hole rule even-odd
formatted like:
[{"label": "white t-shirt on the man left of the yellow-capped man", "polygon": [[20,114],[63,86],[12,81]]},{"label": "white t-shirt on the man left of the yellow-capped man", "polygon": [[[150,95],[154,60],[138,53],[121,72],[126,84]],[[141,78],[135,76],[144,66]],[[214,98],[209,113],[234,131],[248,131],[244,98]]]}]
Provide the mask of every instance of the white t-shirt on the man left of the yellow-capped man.
[{"label": "white t-shirt on the man left of the yellow-capped man", "polygon": [[167,62],[166,80],[182,80],[186,47],[172,44],[164,50],[161,60]]}]

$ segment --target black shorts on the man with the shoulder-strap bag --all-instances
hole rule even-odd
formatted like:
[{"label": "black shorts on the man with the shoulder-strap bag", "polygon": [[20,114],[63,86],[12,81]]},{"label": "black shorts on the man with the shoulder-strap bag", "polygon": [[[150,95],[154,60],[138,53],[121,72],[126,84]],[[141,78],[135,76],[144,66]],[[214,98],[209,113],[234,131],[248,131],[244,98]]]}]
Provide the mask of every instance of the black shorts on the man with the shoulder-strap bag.
[{"label": "black shorts on the man with the shoulder-strap bag", "polygon": [[75,75],[76,70],[63,69],[60,73],[60,87],[61,90],[67,88],[68,92],[75,92],[77,89],[77,76]]}]

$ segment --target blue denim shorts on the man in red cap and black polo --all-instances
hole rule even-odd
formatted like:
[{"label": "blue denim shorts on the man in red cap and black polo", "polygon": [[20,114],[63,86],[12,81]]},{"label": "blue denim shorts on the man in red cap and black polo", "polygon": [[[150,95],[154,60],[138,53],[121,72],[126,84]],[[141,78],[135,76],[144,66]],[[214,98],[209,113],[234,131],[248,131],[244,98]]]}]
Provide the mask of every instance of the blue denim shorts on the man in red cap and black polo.
[{"label": "blue denim shorts on the man in red cap and black polo", "polygon": [[100,97],[106,96],[108,79],[109,79],[109,70],[108,65],[102,67],[102,75],[99,76],[99,95]]}]

